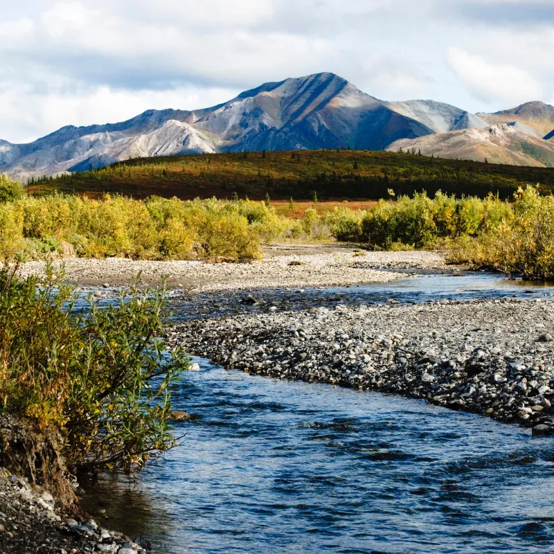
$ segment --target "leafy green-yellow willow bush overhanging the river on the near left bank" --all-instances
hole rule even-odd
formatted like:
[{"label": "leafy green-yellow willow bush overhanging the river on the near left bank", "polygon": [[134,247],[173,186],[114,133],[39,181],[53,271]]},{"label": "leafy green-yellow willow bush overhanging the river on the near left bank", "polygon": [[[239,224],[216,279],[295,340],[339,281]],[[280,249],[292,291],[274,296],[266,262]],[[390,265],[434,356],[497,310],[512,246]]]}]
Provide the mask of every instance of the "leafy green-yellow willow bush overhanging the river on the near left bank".
[{"label": "leafy green-yellow willow bush overhanging the river on the near left bank", "polygon": [[71,467],[132,473],[172,447],[168,386],[188,357],[157,339],[165,290],[132,287],[117,305],[75,311],[51,266],[19,280],[0,271],[0,410],[59,430]]}]

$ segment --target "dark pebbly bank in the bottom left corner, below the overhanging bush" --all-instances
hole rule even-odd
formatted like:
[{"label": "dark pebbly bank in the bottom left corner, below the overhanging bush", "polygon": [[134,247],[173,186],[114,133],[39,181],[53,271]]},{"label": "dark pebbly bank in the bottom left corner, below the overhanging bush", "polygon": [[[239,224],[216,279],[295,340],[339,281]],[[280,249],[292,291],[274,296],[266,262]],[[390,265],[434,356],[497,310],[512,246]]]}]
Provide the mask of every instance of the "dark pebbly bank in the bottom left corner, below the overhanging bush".
[{"label": "dark pebbly bank in the bottom left corner, below the overhanging bush", "polygon": [[[77,521],[77,519],[80,521]],[[46,490],[0,468],[0,553],[139,554],[150,548],[56,506]]]}]

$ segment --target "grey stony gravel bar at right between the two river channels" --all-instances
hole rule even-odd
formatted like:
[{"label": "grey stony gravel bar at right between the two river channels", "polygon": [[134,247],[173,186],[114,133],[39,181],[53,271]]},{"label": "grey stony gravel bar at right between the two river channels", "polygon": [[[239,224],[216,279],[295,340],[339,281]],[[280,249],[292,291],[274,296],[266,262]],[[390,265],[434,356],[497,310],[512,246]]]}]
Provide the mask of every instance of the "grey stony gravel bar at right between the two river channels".
[{"label": "grey stony gravel bar at right between the two river channels", "polygon": [[172,345],[256,375],[425,400],[554,432],[554,303],[310,307],[190,321]]}]

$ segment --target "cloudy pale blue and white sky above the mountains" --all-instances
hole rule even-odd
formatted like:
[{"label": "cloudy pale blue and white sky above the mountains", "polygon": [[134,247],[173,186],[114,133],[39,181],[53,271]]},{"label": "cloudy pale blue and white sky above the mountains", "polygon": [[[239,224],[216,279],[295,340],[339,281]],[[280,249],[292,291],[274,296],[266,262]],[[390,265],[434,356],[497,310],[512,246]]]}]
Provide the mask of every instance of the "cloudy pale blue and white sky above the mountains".
[{"label": "cloudy pale blue and white sky above the mountains", "polygon": [[337,73],[384,100],[554,104],[554,0],[0,0],[0,139]]}]

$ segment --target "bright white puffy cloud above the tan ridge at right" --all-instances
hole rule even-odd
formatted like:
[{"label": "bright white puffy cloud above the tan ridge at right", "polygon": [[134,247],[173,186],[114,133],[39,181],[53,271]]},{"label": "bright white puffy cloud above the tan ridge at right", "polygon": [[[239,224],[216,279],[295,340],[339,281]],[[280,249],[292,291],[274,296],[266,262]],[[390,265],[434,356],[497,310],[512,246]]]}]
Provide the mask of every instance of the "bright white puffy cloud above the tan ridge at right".
[{"label": "bright white puffy cloud above the tan ridge at right", "polygon": [[447,58],[465,87],[485,102],[522,103],[543,98],[544,89],[524,69],[509,64],[493,64],[462,48],[449,48]]}]

